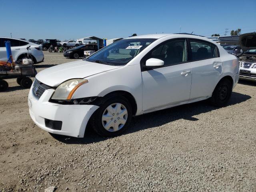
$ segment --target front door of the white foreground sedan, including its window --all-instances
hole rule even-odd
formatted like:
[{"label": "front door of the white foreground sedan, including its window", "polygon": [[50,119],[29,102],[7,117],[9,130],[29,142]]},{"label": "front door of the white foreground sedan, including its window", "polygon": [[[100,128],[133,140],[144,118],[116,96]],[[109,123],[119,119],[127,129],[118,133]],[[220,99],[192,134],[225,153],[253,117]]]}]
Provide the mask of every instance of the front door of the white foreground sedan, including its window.
[{"label": "front door of the white foreground sedan, including its window", "polygon": [[[189,100],[192,79],[187,62],[186,40],[169,40],[158,45],[142,59],[142,110],[150,110]],[[149,58],[164,61],[164,66],[145,69]]]}]

